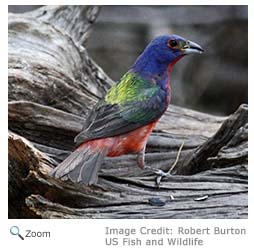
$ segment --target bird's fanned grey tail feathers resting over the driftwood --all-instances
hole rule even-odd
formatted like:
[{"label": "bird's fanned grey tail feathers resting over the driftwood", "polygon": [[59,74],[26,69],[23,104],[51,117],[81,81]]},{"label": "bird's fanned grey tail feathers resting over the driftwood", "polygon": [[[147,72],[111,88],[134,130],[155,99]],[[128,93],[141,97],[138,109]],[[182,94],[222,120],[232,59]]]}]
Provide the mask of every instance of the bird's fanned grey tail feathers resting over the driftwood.
[{"label": "bird's fanned grey tail feathers resting over the driftwood", "polygon": [[78,147],[50,175],[62,180],[92,185],[97,182],[98,171],[107,155],[107,149],[91,150],[84,145]]}]

